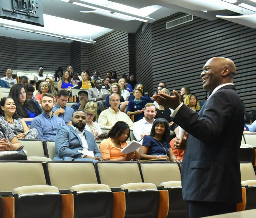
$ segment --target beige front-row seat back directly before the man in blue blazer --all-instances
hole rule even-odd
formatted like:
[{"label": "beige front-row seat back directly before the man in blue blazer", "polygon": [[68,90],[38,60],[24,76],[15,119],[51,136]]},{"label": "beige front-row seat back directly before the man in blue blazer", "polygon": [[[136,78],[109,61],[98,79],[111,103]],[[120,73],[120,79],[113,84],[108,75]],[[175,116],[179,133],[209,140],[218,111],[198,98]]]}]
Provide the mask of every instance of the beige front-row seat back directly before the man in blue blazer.
[{"label": "beige front-row seat back directly before the man in blue blazer", "polygon": [[46,163],[47,182],[59,189],[98,183],[93,162],[52,161]]}]

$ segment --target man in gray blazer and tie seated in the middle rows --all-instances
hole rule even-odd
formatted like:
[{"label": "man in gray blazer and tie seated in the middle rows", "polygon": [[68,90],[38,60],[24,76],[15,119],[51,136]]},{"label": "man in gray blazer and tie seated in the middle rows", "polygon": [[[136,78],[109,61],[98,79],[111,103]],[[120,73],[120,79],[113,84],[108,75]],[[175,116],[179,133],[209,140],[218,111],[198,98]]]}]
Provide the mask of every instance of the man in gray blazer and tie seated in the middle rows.
[{"label": "man in gray blazer and tie seated in the middle rows", "polygon": [[107,89],[102,89],[102,83],[100,79],[94,81],[95,87],[88,90],[88,102],[96,102],[98,105],[98,114],[106,108],[105,99],[102,99],[102,94],[108,94]]}]

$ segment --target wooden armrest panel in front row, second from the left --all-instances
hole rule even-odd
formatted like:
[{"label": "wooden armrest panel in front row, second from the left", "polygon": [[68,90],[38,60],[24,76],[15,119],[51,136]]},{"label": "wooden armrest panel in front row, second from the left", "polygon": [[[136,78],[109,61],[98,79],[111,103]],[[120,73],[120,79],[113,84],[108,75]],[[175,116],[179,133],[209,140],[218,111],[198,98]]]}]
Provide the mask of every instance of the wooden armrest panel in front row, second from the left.
[{"label": "wooden armrest panel in front row, second from the left", "polygon": [[62,213],[61,218],[73,218],[74,217],[74,195],[63,194],[62,197]]}]

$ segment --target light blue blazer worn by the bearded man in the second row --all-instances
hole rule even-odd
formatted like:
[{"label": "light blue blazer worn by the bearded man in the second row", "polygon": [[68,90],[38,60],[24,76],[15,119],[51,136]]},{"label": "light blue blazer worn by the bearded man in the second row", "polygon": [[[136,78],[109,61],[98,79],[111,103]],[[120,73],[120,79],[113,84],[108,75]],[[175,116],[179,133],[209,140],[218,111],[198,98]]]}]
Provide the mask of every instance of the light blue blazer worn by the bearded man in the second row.
[{"label": "light blue blazer worn by the bearded man in the second row", "polygon": [[[85,130],[85,138],[88,143],[89,151],[93,151],[94,156],[102,158],[94,140],[93,134]],[[78,150],[83,150],[82,141],[79,135],[71,126],[61,126],[55,136],[56,155],[53,161],[73,161],[81,158]]]}]

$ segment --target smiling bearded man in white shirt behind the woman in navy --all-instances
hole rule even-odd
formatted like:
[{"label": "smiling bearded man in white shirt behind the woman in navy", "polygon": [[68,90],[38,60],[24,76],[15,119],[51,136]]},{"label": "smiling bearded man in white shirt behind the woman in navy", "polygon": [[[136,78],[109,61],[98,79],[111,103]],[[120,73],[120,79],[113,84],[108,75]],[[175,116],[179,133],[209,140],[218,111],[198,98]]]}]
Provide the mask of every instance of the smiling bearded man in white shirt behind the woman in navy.
[{"label": "smiling bearded man in white shirt behind the woman in navy", "polygon": [[153,103],[147,103],[144,107],[144,117],[133,124],[133,134],[139,142],[141,139],[150,134],[153,122],[156,116],[156,106]]}]

